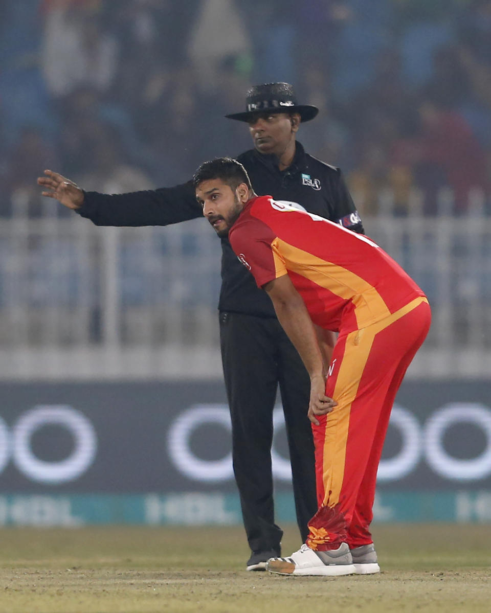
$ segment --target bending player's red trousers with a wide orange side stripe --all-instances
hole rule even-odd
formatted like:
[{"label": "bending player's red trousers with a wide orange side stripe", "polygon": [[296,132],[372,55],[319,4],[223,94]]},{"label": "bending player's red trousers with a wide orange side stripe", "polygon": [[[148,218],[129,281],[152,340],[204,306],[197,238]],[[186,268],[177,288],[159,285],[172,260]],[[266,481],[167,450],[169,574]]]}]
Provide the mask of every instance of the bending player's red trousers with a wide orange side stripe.
[{"label": "bending player's red trousers with a wide orange side stripe", "polygon": [[420,297],[383,321],[340,333],[326,395],[338,405],[312,425],[319,510],[309,522],[311,549],[372,543],[378,465],[395,395],[430,328]]}]

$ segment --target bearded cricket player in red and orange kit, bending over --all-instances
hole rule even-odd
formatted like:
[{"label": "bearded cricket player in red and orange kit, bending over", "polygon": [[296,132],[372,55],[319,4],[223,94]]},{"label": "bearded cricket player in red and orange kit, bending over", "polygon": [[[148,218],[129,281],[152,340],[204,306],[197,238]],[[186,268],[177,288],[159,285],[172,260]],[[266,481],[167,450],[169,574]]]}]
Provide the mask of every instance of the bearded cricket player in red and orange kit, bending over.
[{"label": "bearded cricket player in red and orange kit, bending over", "polygon": [[[424,293],[383,249],[291,202],[256,196],[242,164],[205,162],[196,197],[275,307],[310,376],[318,511],[272,573],[379,572],[370,533],[395,395],[430,327]],[[302,203],[300,203],[301,205]],[[338,332],[329,360],[326,339]]]}]

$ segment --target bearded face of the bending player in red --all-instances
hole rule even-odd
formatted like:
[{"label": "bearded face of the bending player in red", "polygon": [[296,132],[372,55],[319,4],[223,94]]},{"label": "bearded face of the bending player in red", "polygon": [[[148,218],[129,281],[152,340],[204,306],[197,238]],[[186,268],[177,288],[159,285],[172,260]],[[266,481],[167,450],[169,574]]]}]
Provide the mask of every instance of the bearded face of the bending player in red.
[{"label": "bearded face of the bending player in red", "polygon": [[[242,189],[241,189],[242,188]],[[245,188],[245,190],[243,189]],[[229,234],[243,208],[244,192],[247,186],[242,183],[235,192],[221,179],[202,181],[196,188],[196,199],[203,207],[203,215],[215,229],[220,238]]]}]

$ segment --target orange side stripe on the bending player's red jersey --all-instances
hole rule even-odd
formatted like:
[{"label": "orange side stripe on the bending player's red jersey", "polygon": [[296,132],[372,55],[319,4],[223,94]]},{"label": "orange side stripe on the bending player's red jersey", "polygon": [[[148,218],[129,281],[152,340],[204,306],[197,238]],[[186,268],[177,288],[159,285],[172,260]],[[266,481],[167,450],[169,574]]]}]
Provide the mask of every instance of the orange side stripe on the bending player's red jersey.
[{"label": "orange side stripe on the bending player's red jersey", "polygon": [[351,300],[358,328],[390,315],[389,308],[375,287],[351,270],[313,256],[308,251],[289,245],[281,238],[275,238],[271,247],[276,270],[280,268],[276,264],[280,259],[283,269],[305,277],[344,300]]}]

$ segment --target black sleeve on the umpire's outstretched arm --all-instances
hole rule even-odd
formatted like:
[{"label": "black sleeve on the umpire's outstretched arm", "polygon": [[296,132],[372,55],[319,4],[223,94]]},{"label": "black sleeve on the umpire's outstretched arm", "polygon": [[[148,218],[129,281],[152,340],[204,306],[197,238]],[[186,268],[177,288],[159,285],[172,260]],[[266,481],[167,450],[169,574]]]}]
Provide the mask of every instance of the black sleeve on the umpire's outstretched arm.
[{"label": "black sleeve on the umpire's outstretched arm", "polygon": [[203,215],[192,181],[128,194],[84,192],[77,213],[96,226],[168,226]]}]

